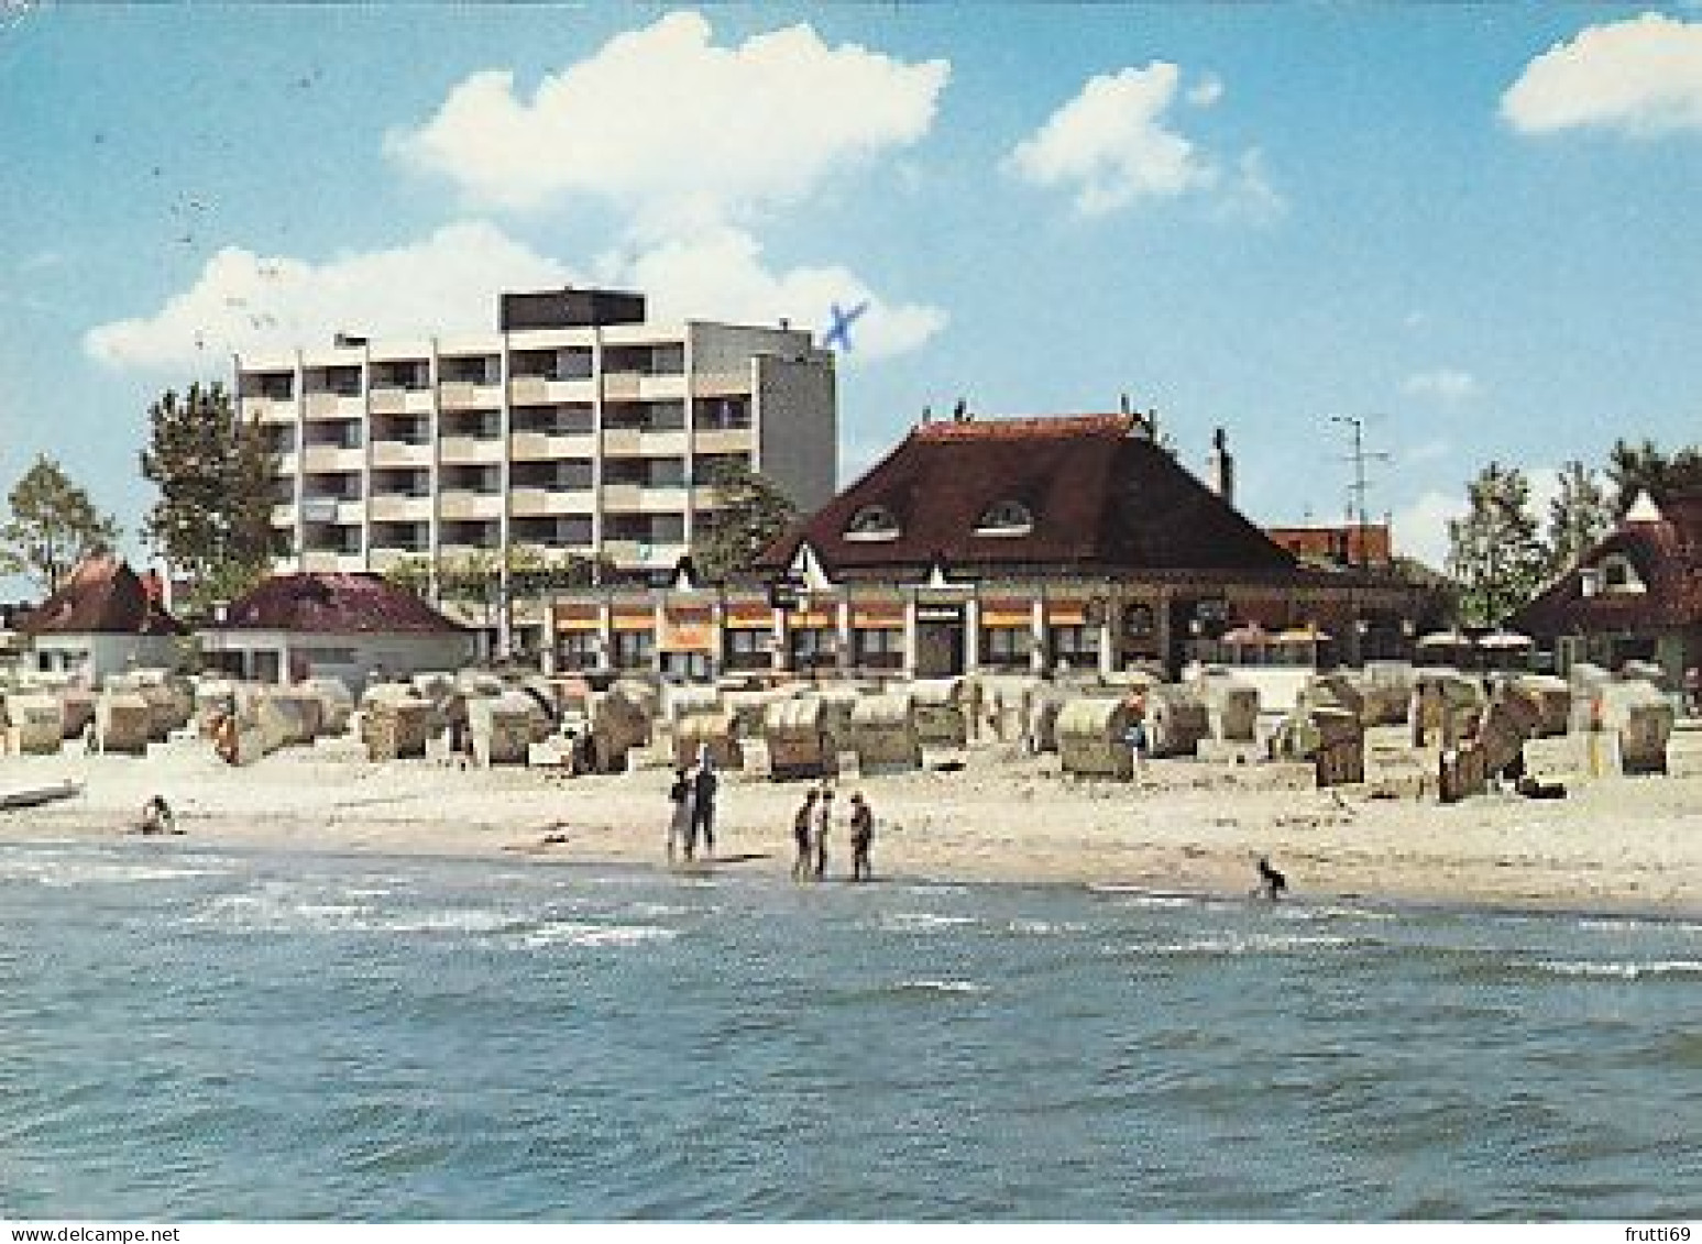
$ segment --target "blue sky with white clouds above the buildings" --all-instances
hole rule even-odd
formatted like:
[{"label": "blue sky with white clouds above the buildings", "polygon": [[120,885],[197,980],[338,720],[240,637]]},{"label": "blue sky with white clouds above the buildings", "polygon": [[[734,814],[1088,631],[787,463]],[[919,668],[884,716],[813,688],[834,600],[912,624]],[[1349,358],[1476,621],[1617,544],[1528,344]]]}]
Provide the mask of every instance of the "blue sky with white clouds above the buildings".
[{"label": "blue sky with white clouds above the buildings", "polygon": [[129,533],[165,388],[231,354],[485,332],[502,289],[810,325],[839,473],[960,398],[1157,410],[1265,524],[1440,565],[1702,441],[1702,7],[0,0],[0,492]]}]

